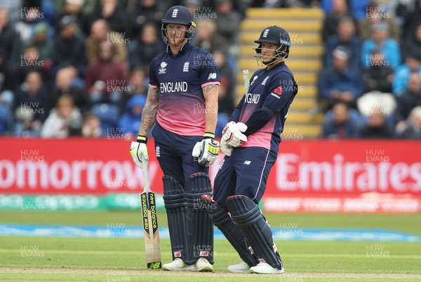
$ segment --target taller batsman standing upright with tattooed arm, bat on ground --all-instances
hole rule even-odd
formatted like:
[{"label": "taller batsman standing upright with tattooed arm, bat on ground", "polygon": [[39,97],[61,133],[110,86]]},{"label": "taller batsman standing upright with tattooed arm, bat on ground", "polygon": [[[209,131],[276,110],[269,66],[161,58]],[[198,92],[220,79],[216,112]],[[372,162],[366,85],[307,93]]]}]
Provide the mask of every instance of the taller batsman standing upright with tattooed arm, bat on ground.
[{"label": "taller batsman standing upright with tattooed arm, bat on ground", "polygon": [[208,171],[220,150],[214,139],[220,74],[212,55],[189,42],[195,27],[184,6],[173,6],[163,18],[161,33],[168,46],[150,64],[147,101],[130,151],[142,167],[154,126],[173,254],[173,262],[162,268],[213,272],[213,224],[196,203],[203,194],[212,196]]}]

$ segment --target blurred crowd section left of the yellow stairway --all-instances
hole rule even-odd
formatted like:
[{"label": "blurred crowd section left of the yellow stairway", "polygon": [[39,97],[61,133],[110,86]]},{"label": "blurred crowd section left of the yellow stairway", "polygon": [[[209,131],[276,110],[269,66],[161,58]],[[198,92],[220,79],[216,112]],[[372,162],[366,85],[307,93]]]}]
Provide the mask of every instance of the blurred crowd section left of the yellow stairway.
[{"label": "blurred crowd section left of the yellow stairway", "polygon": [[166,50],[161,19],[178,4],[194,14],[192,43],[218,64],[221,132],[234,110],[241,1],[4,0],[0,134],[137,135],[149,63]]}]

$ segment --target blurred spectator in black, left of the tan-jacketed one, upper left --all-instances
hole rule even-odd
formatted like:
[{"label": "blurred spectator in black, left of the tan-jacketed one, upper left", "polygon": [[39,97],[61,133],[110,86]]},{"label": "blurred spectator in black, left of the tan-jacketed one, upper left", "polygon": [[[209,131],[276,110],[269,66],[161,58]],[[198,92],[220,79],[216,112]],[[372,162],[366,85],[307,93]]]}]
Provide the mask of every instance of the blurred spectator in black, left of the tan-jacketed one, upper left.
[{"label": "blurred spectator in black, left of the tan-jacketed one, upper left", "polygon": [[85,44],[76,34],[78,29],[74,15],[65,15],[60,20],[60,35],[55,38],[55,71],[72,65],[80,73],[85,73]]}]

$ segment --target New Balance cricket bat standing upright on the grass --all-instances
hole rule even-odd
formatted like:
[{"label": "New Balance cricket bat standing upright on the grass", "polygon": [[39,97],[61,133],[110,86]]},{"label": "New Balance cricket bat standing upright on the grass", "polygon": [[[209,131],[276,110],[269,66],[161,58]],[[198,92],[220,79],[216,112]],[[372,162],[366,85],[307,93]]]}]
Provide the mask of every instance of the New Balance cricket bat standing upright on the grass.
[{"label": "New Balance cricket bat standing upright on the grass", "polygon": [[161,269],[161,246],[159,245],[158,218],[156,216],[155,193],[149,186],[148,161],[142,155],[143,192],[140,194],[143,237],[145,239],[146,263],[148,269]]}]

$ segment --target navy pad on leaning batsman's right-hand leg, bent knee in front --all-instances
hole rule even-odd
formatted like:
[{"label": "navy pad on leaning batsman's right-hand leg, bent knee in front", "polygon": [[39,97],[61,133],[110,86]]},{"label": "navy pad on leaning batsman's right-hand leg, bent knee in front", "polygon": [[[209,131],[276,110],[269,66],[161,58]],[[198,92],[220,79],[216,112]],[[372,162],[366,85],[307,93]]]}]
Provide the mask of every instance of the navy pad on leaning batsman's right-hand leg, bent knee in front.
[{"label": "navy pad on leaning batsman's right-hand leg, bent knee in front", "polygon": [[272,230],[267,225],[258,205],[252,199],[241,195],[228,197],[225,203],[232,219],[243,230],[259,260],[265,260],[274,268],[281,268],[281,257],[274,251]]}]

